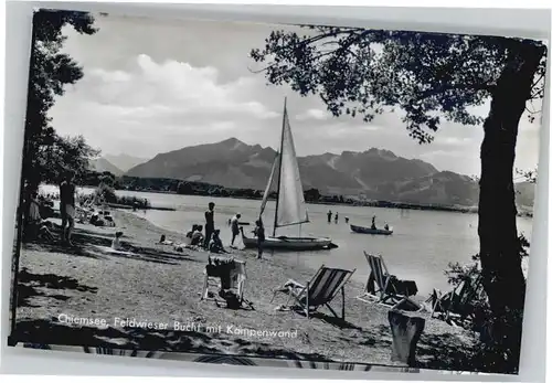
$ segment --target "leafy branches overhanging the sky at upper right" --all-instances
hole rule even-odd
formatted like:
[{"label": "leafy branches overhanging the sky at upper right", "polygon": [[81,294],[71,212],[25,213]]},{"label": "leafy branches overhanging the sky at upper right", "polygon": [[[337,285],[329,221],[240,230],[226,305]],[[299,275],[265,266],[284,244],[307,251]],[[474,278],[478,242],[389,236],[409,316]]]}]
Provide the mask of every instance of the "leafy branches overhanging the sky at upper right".
[{"label": "leafy branches overhanging the sky at upper right", "polygon": [[526,44],[542,51],[535,86],[544,92],[544,45],[521,39],[305,26],[312,34],[274,31],[252,58],[265,66],[269,84],[287,83],[302,96],[318,94],[333,116],[370,121],[393,108],[403,113],[411,137],[431,142],[442,118],[464,125],[482,123],[471,107],[496,89],[508,53]]}]

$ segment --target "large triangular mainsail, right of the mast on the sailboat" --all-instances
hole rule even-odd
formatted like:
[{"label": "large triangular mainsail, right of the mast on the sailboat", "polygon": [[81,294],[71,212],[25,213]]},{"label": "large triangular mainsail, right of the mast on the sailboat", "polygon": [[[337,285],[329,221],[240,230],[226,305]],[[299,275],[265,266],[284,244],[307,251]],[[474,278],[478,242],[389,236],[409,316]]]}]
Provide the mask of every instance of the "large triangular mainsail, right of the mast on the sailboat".
[{"label": "large triangular mainsail, right of the mast on the sailboat", "polygon": [[309,222],[286,107],[282,129],[276,227]]}]

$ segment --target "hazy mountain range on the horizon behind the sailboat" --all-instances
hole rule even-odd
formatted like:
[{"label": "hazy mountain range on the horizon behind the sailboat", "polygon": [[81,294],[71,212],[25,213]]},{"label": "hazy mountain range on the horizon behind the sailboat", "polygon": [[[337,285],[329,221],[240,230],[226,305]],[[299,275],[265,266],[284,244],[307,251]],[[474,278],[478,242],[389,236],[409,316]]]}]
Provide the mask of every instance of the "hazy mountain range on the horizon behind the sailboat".
[{"label": "hazy mountain range on the horizon behind the sailboat", "polygon": [[[276,151],[231,138],[159,153],[126,175],[201,181],[225,188],[264,190]],[[370,200],[475,206],[479,187],[470,177],[383,149],[299,157],[304,189]]]}]

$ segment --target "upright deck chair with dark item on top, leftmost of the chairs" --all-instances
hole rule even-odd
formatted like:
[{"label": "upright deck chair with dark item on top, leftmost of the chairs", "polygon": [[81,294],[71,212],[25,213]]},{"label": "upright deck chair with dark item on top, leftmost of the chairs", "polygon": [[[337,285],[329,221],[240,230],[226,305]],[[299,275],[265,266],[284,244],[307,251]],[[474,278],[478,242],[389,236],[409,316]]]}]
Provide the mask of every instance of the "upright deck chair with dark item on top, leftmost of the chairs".
[{"label": "upright deck chair with dark item on top, leftmost of the chairs", "polygon": [[[245,272],[244,260],[210,256],[209,265],[203,269],[203,274],[204,279],[201,290],[201,300],[210,298],[210,292],[214,292],[210,291],[210,287],[213,287],[217,289],[216,292],[221,290],[232,290],[237,296],[241,305],[245,302],[244,290],[247,273]],[[215,294],[213,295],[216,296]]]}]

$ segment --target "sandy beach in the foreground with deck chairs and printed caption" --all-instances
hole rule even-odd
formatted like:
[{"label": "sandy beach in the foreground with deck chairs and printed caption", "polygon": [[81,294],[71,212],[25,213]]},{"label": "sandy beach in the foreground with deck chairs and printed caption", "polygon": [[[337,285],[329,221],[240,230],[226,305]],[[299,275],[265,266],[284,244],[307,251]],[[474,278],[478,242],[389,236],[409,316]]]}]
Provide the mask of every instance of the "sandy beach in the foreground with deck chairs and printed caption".
[{"label": "sandy beach in the foreground with deck chairs and printed caption", "polygon": [[[346,321],[327,309],[307,319],[275,308],[285,296],[275,288],[293,278],[306,283],[316,269],[286,263],[285,257],[256,259],[250,251],[230,249],[246,262],[244,297],[253,309],[232,310],[200,300],[209,253],[157,244],[169,233],[132,213],[114,211],[117,227],[77,224],[75,247],[24,244],[20,258],[15,339],[44,344],[110,347],[132,350],[212,352],[294,360],[358,362],[392,365],[389,309],[355,299],[363,286],[346,285]],[[106,254],[115,231],[136,255]],[[368,267],[368,265],[367,265]],[[333,300],[340,308],[340,296]],[[461,328],[431,319],[418,342],[418,368],[470,370],[478,347]],[[73,321],[73,323],[72,323]],[[75,322],[85,322],[77,325]],[[174,330],[174,322],[179,322]],[[148,325],[149,323],[149,325]],[[145,329],[144,327],[150,327]],[[256,330],[256,334],[243,329]]]}]

